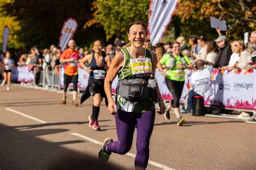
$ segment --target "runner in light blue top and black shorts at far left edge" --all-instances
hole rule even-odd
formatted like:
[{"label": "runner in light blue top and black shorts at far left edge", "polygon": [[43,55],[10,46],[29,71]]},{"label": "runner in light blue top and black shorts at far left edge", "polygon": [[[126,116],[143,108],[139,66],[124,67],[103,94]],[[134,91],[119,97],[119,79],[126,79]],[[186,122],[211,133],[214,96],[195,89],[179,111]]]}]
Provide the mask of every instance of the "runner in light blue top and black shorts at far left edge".
[{"label": "runner in light blue top and black shorts at far left edge", "polygon": [[14,60],[11,59],[10,52],[6,52],[4,58],[4,80],[2,81],[1,86],[4,86],[5,82],[7,82],[6,90],[10,90],[11,85],[11,68],[14,66]]}]

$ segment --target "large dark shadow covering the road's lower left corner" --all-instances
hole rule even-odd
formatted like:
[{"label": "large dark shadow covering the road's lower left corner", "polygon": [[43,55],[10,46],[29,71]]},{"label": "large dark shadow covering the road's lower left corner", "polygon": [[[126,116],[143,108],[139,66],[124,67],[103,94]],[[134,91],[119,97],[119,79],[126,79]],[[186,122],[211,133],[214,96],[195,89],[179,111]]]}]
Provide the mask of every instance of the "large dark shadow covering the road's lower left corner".
[{"label": "large dark shadow covering the road's lower left corner", "polygon": [[19,131],[0,124],[1,169],[123,169],[113,164],[102,164],[96,157],[60,146],[85,142],[83,140],[51,143],[36,137],[64,131],[67,130]]}]

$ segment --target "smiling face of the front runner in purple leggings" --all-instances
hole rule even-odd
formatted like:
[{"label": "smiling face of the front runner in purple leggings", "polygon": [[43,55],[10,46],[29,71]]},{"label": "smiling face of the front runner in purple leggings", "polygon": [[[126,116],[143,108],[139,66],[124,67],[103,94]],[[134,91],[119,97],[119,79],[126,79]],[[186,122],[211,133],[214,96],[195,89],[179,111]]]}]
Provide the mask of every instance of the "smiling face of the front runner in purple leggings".
[{"label": "smiling face of the front runner in purple leggings", "polygon": [[127,35],[132,46],[136,48],[143,47],[146,41],[146,30],[143,25],[132,25]]}]

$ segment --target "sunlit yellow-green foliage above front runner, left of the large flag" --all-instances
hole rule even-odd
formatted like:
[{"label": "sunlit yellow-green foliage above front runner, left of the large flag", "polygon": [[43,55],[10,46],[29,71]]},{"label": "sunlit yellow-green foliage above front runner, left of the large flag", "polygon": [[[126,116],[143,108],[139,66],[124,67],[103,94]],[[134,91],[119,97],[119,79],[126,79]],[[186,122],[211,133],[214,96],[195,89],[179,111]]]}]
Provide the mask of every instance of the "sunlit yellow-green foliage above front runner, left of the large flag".
[{"label": "sunlit yellow-green foliage above front runner, left of the large flag", "polygon": [[131,22],[141,20],[147,24],[149,4],[149,0],[97,0],[93,8],[94,18],[85,27],[97,23],[104,27],[107,40],[117,33],[126,38],[126,29]]}]

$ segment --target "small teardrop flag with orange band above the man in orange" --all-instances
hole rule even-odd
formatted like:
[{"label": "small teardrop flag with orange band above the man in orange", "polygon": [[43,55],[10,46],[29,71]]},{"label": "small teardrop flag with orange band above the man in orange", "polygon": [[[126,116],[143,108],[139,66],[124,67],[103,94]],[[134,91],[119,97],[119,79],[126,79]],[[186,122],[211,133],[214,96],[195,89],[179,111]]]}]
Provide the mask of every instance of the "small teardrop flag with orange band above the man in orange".
[{"label": "small teardrop flag with orange band above the man in orange", "polygon": [[59,37],[59,47],[62,51],[66,48],[69,40],[72,39],[77,30],[77,22],[74,18],[68,18],[65,20],[62,26],[62,31]]}]

